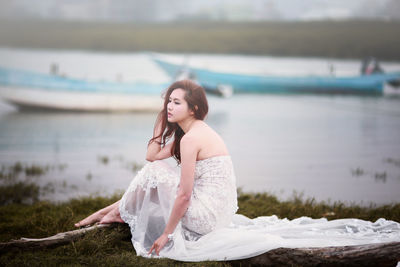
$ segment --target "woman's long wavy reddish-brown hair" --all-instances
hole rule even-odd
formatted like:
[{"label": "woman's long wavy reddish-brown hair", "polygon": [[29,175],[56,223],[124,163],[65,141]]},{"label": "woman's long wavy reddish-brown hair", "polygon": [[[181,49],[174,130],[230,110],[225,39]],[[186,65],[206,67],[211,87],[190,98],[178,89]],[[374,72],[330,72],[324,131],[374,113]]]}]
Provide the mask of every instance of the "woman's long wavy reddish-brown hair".
[{"label": "woman's long wavy reddish-brown hair", "polygon": [[149,140],[148,145],[156,142],[156,139],[161,137],[161,147],[164,147],[168,140],[173,136],[174,142],[171,148],[171,154],[178,163],[181,162],[180,142],[184,131],[179,127],[178,123],[168,122],[167,105],[169,97],[175,89],[182,89],[185,91],[185,101],[188,103],[188,108],[194,112],[194,117],[198,120],[203,120],[208,113],[208,101],[205,90],[200,85],[190,80],[176,81],[171,84],[164,94],[164,107],[157,116],[156,124],[154,127],[161,123],[161,132],[158,136],[153,136]]}]

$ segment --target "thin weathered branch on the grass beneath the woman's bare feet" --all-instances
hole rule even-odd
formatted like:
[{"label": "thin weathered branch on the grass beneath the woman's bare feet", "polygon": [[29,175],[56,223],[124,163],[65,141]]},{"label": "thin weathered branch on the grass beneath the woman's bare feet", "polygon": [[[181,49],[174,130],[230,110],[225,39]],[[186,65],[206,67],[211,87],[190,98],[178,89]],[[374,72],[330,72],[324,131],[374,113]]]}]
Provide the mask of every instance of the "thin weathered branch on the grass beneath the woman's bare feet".
[{"label": "thin weathered branch on the grass beneath the woman's bare feet", "polygon": [[64,233],[58,233],[53,236],[45,237],[45,238],[24,238],[21,237],[18,240],[12,240],[10,242],[0,243],[0,253],[7,252],[14,248],[19,248],[23,250],[28,249],[40,249],[46,247],[53,247],[64,245],[69,242],[75,241],[85,235],[87,232],[111,227],[112,224],[96,224],[93,226],[89,226],[82,229],[77,229],[73,231],[68,231]]}]

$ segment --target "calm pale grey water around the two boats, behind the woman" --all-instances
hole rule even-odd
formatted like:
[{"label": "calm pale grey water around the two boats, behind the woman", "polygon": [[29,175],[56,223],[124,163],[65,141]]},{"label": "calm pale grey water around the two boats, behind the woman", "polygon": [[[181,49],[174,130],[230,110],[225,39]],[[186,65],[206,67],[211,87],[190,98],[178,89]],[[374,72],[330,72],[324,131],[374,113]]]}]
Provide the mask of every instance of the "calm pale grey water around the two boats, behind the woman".
[{"label": "calm pale grey water around the two boats, behind the woman", "polygon": [[[181,55],[167,55],[176,61]],[[0,65],[48,72],[57,62],[68,76],[92,80],[165,82],[147,54],[0,49]],[[324,59],[196,55],[193,64],[267,73],[322,73]],[[234,62],[241,64],[233,64]],[[351,75],[359,62],[330,60]],[[264,63],[264,64],[263,64]],[[296,68],[299,68],[296,72]],[[246,66],[246,68],[240,68]],[[286,66],[286,67],[285,67]],[[303,68],[303,66],[305,66]],[[382,63],[399,70],[399,63]],[[328,68],[326,68],[328,71]],[[343,95],[209,97],[207,122],[230,150],[238,186],[285,199],[293,191],[317,200],[368,204],[400,202],[400,98]],[[39,179],[53,183],[46,197],[65,200],[124,190],[132,166],[145,164],[155,113],[21,113],[0,103],[0,164],[59,165]],[[101,157],[109,161],[104,164]],[[358,169],[358,172],[356,171]]]}]

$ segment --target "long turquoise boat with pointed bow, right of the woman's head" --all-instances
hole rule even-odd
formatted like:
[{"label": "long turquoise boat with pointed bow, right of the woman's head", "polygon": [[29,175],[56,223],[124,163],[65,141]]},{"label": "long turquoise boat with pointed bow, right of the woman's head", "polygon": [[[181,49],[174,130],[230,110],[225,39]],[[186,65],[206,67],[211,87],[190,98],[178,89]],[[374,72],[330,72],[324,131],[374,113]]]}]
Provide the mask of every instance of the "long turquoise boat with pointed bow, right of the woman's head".
[{"label": "long turquoise boat with pointed bow, right of the woman's head", "polygon": [[[171,77],[182,69],[181,65],[173,64],[158,58],[153,60]],[[196,80],[205,87],[216,88],[220,85],[231,86],[234,92],[241,93],[352,93],[352,94],[382,94],[387,84],[398,86],[400,72],[375,73],[352,77],[305,76],[278,77],[223,73],[202,68],[185,66]],[[398,89],[400,91],[400,88]]]}]

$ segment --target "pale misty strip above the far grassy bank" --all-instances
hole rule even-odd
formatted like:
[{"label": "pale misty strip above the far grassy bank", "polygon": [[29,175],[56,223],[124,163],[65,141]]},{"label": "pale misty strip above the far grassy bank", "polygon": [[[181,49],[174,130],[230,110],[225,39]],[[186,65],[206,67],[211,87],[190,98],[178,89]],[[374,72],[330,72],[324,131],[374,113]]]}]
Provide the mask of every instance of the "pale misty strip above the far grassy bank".
[{"label": "pale misty strip above the far grassy bank", "polygon": [[398,0],[0,0],[0,19],[168,22],[399,20]]}]

